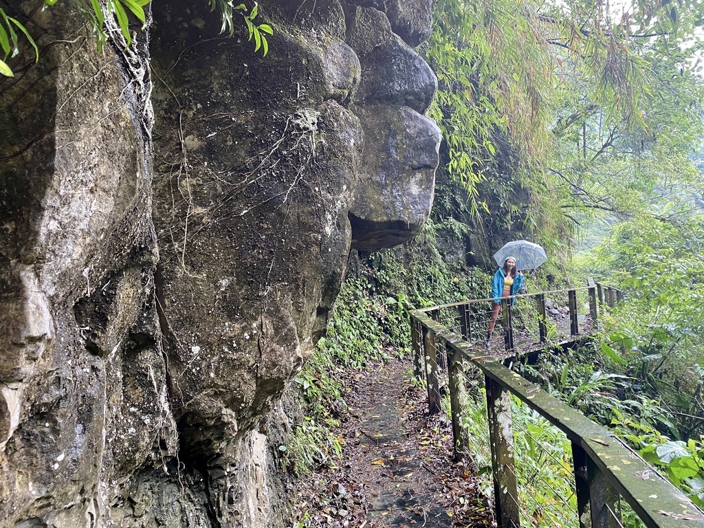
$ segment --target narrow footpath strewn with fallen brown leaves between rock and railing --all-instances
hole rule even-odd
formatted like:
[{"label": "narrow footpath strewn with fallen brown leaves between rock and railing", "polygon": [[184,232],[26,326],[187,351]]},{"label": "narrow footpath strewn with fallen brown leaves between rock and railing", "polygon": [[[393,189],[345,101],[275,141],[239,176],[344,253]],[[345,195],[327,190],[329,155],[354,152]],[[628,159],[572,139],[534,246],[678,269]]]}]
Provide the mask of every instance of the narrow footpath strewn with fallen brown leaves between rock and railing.
[{"label": "narrow footpath strewn with fallen brown leaves between rock and railing", "polygon": [[471,462],[453,463],[451,425],[427,417],[411,369],[394,359],[348,377],[343,453],[299,484],[299,527],[491,526]]}]

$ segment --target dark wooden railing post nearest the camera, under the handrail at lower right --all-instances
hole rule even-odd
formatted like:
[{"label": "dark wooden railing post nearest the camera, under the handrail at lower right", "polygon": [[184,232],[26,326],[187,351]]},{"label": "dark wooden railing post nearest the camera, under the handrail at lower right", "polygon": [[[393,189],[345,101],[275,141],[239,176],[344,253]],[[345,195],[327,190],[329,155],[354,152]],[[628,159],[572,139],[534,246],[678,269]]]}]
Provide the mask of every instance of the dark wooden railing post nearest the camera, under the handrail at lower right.
[{"label": "dark wooden railing post nearest the camera, under the handrail at lower right", "polygon": [[618,492],[579,444],[572,442],[574,482],[580,528],[617,528]]}]

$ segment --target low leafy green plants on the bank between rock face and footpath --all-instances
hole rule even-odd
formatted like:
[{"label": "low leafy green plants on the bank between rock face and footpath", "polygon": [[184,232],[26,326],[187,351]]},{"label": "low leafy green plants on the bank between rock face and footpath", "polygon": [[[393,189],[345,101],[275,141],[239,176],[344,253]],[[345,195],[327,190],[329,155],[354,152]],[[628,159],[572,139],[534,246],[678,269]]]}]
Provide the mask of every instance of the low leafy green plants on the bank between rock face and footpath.
[{"label": "low leafy green plants on the bank between rock face and footpath", "polygon": [[305,474],[315,465],[337,463],[339,439],[330,429],[345,408],[343,372],[410,353],[410,308],[486,295],[490,277],[447,262],[437,246],[441,235],[463,229],[456,222],[431,221],[415,241],[360,258],[350,270],[327,335],[294,379],[307,417],[285,446],[291,471]]}]

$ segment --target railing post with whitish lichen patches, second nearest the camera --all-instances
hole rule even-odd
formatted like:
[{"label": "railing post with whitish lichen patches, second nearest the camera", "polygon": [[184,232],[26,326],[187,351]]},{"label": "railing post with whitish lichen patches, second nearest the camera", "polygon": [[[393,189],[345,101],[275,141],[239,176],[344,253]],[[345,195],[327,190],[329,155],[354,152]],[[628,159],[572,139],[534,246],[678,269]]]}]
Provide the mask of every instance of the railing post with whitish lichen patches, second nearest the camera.
[{"label": "railing post with whitish lichen patches, second nearest the camera", "polygon": [[520,526],[515,458],[513,455],[513,422],[508,391],[484,376],[486,413],[489,417],[491,467],[494,470],[494,502],[496,522],[500,528]]}]

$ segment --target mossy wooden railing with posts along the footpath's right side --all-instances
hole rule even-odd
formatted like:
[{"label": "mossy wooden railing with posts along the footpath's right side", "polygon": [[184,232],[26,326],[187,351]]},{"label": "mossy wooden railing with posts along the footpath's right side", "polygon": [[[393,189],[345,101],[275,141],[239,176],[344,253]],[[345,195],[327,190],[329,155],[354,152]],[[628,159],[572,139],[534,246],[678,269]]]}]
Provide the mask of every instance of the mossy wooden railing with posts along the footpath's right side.
[{"label": "mossy wooden railing with posts along the footpath's right side", "polygon": [[[589,291],[589,306],[595,322],[598,315],[597,301],[613,306],[622,298],[619,291],[598,287],[593,282],[586,290]],[[550,292],[553,296],[555,293]],[[546,294],[534,296],[544,299]],[[576,297],[567,292],[567,298]],[[463,394],[466,390],[463,382],[465,372],[473,368],[479,369],[484,375],[494,502],[499,527],[511,528],[520,525],[520,503],[517,494],[520,482],[517,482],[515,472],[516,458],[520,453],[515,453],[513,447],[509,394],[513,394],[545,417],[570,440],[573,491],[577,496],[577,511],[574,514],[577,519],[574,519],[574,526],[624,526],[620,508],[622,501],[625,501],[646,527],[704,527],[704,514],[696,505],[608,429],[597,425],[582,413],[547,394],[533,382],[513,372],[503,365],[501,358],[487,356],[471,340],[465,339],[471,336],[472,320],[463,314],[473,313],[471,306],[474,302],[464,301],[413,310],[410,313],[410,325],[415,370],[427,383],[430,413],[438,413],[441,410],[441,379],[448,386],[456,458],[467,455],[470,444],[462,425],[465,415],[463,401],[466,398],[466,394]],[[539,311],[540,302],[536,301],[536,309]],[[574,308],[575,315],[578,304],[576,301],[570,302],[570,310]],[[467,306],[470,306],[470,309]],[[458,313],[460,324],[454,329],[443,324],[443,316],[447,315],[448,310],[456,310]],[[507,312],[510,317],[510,310],[505,305],[504,313]],[[577,317],[570,317],[570,323],[571,329],[575,330],[574,325],[578,326],[579,320]],[[510,319],[506,327],[507,332],[512,329]],[[579,327],[576,330],[579,332]],[[542,331],[539,332],[539,337],[543,337]],[[507,347],[509,341],[510,339],[505,339]],[[535,522],[533,524],[547,526]]]}]

